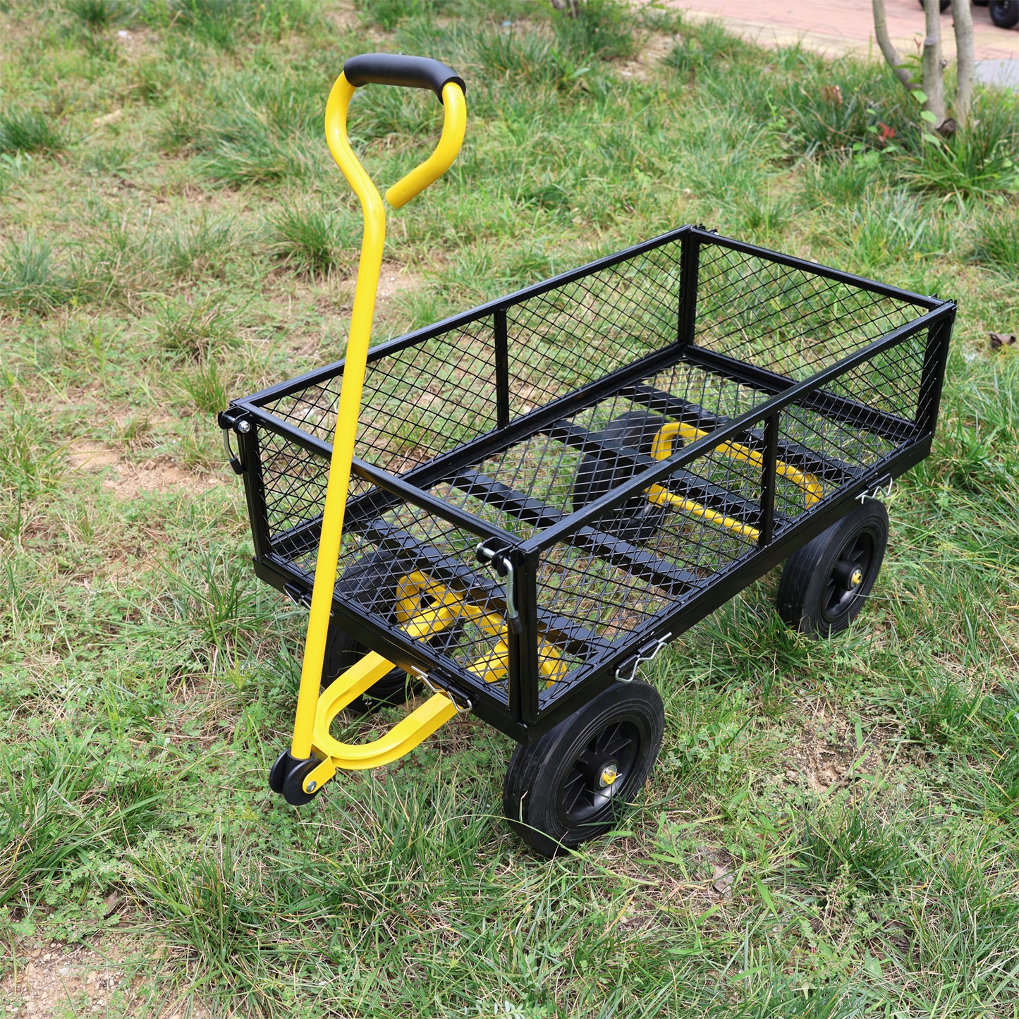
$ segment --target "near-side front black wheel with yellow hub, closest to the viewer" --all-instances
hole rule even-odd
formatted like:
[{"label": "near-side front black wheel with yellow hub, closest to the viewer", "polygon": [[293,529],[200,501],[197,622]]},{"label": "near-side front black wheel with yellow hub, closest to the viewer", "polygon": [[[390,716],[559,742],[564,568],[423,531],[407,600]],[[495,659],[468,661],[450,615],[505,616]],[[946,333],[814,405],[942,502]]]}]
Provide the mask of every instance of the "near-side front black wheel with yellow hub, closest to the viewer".
[{"label": "near-side front black wheel with yellow hub, closest to the viewer", "polygon": [[514,751],[502,787],[509,827],[542,856],[608,832],[644,788],[663,728],[654,687],[612,684]]}]

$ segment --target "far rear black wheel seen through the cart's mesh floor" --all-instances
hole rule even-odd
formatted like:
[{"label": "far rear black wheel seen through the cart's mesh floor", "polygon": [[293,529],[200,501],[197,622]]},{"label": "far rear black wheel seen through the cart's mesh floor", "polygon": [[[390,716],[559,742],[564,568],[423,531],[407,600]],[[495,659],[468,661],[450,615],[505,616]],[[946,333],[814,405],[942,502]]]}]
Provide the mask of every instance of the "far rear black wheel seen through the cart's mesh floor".
[{"label": "far rear black wheel seen through the cart's mesh floor", "polygon": [[[608,423],[601,438],[643,453],[651,452],[658,430],[665,419],[646,411],[630,411]],[[683,444],[677,437],[673,448]],[[573,506],[580,509],[589,502],[601,498],[611,488],[618,487],[638,473],[639,468],[621,464],[614,457],[590,452],[580,462],[574,480]],[[643,493],[627,499],[611,515],[597,522],[601,531],[608,531],[624,541],[647,541],[653,537],[665,520],[666,506],[648,500]]]}]

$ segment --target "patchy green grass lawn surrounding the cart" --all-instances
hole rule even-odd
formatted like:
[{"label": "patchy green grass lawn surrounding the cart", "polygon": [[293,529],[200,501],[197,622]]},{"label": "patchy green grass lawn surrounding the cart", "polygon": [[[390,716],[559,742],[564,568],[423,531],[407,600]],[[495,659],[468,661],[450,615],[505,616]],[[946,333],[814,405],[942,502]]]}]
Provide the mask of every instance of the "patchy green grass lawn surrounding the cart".
[{"label": "patchy green grass lawn surrounding the cart", "polygon": [[[684,222],[960,303],[858,624],[801,640],[770,575],[683,634],[645,798],[551,862],[473,715],[302,811],[266,789],[305,615],[252,573],[214,412],[342,356],[322,111],[369,48],[447,60],[470,112],[388,217],[377,339]],[[607,0],[8,0],[0,110],[0,1011],[86,944],[130,974],[110,1016],[1016,1019],[1014,95],[942,146],[877,65]],[[440,119],[372,86],[351,135],[388,184]]]}]

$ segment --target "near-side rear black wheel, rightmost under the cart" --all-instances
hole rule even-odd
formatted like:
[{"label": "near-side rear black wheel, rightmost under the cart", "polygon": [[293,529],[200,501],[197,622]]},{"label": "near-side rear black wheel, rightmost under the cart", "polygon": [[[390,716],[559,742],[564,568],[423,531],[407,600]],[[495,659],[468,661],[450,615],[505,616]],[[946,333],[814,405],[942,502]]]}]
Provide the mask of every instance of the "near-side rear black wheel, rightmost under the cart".
[{"label": "near-side rear black wheel, rightmost under the cart", "polygon": [[883,502],[867,499],[786,561],[779,614],[811,637],[841,633],[856,619],[877,580],[889,540]]}]

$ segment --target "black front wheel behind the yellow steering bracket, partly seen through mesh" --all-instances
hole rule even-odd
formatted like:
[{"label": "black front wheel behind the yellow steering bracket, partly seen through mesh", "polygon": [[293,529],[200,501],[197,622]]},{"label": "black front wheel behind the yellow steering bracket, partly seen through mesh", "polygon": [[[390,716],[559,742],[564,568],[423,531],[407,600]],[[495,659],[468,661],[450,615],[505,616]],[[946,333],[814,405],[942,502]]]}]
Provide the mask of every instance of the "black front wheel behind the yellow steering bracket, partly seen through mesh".
[{"label": "black front wheel behind the yellow steering bracket, partly seen through mesh", "polygon": [[[388,552],[375,552],[359,559],[344,571],[336,585],[336,592],[386,616],[392,623],[398,623],[397,588],[400,578],[414,571],[414,565],[407,560]],[[415,609],[427,608],[435,600],[427,591],[416,591],[413,588],[403,592],[403,595],[405,599],[413,601]],[[462,631],[463,625],[454,624],[437,633],[428,643],[438,651],[448,651],[455,646]],[[363,657],[367,650],[350,634],[330,624],[322,666],[322,685],[326,687],[332,683],[340,673]],[[346,710],[355,714],[367,714],[385,704],[403,704],[412,696],[414,689],[415,681],[401,668],[394,668],[369,687],[360,697],[356,697],[347,705]]]}]

